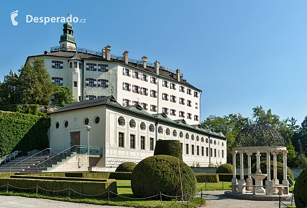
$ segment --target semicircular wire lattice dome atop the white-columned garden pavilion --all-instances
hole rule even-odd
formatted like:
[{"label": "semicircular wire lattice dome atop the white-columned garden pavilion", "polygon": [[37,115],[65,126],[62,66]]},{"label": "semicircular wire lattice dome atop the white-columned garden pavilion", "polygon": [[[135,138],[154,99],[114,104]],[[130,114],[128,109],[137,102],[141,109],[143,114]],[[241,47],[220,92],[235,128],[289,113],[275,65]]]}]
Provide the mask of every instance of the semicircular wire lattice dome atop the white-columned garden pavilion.
[{"label": "semicircular wire lattice dome atop the white-columned garden pavilion", "polygon": [[273,127],[264,124],[253,124],[242,129],[233,145],[233,147],[255,146],[285,147],[282,135]]}]

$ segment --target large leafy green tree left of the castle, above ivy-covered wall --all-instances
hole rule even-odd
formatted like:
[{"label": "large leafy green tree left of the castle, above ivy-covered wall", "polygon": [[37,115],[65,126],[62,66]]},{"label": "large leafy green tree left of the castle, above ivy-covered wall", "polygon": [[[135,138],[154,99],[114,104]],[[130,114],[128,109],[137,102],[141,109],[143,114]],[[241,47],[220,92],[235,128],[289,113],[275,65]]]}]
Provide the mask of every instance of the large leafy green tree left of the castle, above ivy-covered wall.
[{"label": "large leafy green tree left of the castle, above ivy-covered wall", "polygon": [[42,59],[35,58],[19,69],[21,103],[48,105],[54,93],[54,84]]}]

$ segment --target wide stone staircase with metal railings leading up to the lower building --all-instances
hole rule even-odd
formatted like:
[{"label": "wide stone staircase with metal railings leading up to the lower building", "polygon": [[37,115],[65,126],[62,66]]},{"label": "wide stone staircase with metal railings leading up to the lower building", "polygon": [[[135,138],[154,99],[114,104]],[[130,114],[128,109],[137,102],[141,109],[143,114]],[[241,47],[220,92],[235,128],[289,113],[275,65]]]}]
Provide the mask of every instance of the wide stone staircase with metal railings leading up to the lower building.
[{"label": "wide stone staircase with metal railings leading up to the lower building", "polygon": [[38,173],[48,172],[64,161],[77,155],[76,152],[61,153],[58,155],[21,156],[2,164],[0,173]]}]

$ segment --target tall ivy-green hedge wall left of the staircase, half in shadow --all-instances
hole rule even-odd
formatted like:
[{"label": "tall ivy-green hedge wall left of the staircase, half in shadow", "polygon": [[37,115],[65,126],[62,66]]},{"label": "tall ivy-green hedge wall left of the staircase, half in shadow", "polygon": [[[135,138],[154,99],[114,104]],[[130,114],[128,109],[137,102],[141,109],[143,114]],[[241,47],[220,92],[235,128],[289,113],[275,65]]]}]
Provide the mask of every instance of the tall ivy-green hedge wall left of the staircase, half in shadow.
[{"label": "tall ivy-green hedge wall left of the staircase, half in shadow", "polygon": [[50,118],[0,111],[0,157],[16,150],[26,153],[48,148],[49,127]]}]

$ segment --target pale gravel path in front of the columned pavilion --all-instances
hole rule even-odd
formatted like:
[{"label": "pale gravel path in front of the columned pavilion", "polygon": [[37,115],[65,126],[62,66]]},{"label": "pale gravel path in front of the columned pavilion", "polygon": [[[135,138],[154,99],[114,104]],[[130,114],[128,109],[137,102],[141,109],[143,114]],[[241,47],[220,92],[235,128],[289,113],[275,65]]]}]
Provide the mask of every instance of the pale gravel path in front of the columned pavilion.
[{"label": "pale gravel path in front of the columned pavilion", "polygon": [[[243,199],[233,199],[225,197],[225,191],[205,191],[203,192],[203,198],[206,201],[206,208],[218,207],[218,208],[238,208],[238,207],[248,207],[248,208],[274,208],[279,207],[279,201],[251,201]],[[291,204],[291,201],[283,201],[284,204]],[[294,204],[294,200],[293,200]],[[285,207],[281,204],[281,207]]]}]

